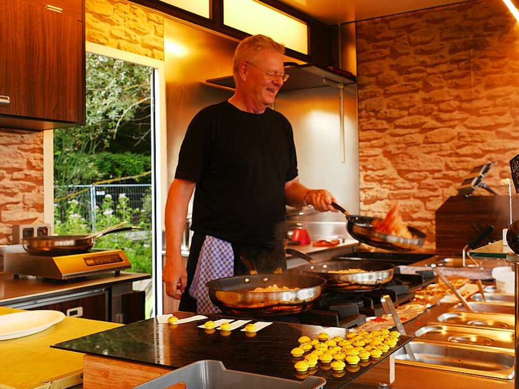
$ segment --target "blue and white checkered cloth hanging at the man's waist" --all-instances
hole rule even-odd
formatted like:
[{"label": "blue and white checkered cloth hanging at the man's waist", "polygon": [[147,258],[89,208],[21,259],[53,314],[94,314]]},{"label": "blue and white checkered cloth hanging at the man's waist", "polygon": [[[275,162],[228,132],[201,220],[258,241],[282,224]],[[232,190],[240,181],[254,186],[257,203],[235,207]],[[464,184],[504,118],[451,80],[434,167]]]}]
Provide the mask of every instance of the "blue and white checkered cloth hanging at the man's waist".
[{"label": "blue and white checkered cloth hanging at the man's waist", "polygon": [[203,241],[195,276],[189,288],[189,296],[196,299],[196,311],[198,313],[220,313],[220,310],[209,298],[206,283],[233,275],[233,246],[229,242],[207,235]]}]

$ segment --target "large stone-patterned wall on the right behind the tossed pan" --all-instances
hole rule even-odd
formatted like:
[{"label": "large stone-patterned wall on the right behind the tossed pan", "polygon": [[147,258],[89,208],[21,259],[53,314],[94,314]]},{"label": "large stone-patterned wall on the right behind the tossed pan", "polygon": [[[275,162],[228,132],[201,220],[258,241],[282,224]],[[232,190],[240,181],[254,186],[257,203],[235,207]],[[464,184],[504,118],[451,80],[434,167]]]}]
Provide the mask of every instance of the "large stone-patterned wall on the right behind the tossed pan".
[{"label": "large stone-patterned wall on the right behind the tossed pan", "polygon": [[[519,153],[519,28],[501,0],[357,24],[361,212],[398,202],[428,233],[473,166],[504,193]],[[484,193],[481,193],[482,195]]]}]

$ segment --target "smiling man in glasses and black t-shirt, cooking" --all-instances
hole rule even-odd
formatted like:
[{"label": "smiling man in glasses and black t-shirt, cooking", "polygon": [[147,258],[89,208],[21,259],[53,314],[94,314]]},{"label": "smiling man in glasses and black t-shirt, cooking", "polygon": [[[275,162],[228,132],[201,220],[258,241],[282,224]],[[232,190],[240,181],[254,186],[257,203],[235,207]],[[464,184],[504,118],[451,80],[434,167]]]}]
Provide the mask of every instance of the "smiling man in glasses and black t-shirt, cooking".
[{"label": "smiling man in glasses and black t-shirt, cooking", "polygon": [[[284,46],[264,35],[244,39],[233,57],[236,91],[203,108],[189,123],[166,204],[166,292],[180,310],[215,312],[207,281],[286,268],[285,204],[336,211],[331,193],[299,183],[290,122],[269,108],[288,79]],[[181,256],[187,206],[194,231],[187,261]]]}]

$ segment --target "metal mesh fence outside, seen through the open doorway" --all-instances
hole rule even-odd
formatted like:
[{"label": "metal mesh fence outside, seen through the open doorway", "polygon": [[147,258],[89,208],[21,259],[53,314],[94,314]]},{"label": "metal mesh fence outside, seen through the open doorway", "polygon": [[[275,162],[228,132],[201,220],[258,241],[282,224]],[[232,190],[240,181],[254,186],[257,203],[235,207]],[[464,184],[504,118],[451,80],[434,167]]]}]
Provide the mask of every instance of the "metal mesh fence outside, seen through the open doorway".
[{"label": "metal mesh fence outside, seen through the open doorway", "polygon": [[147,201],[146,195],[151,194],[151,184],[99,184],[99,185],[64,185],[54,186],[55,193],[59,193],[56,203],[57,216],[64,220],[67,210],[67,201],[78,201],[80,214],[89,221],[92,231],[96,230],[97,208],[101,206],[106,196],[111,196],[114,208],[119,196],[124,194],[128,198],[128,205],[132,209],[143,209]]}]

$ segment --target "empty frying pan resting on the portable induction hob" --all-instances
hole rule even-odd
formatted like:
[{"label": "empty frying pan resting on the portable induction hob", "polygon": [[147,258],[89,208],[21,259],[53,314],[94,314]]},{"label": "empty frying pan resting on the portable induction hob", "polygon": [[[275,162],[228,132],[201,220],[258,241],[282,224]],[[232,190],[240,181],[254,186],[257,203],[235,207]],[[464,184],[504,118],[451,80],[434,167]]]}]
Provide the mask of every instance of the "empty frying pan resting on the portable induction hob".
[{"label": "empty frying pan resting on the portable induction hob", "polygon": [[90,235],[54,235],[52,237],[24,238],[22,239],[22,245],[26,252],[33,255],[84,253],[92,248],[97,238],[103,235],[140,228],[136,226],[121,227],[125,224],[128,223],[125,221]]}]

